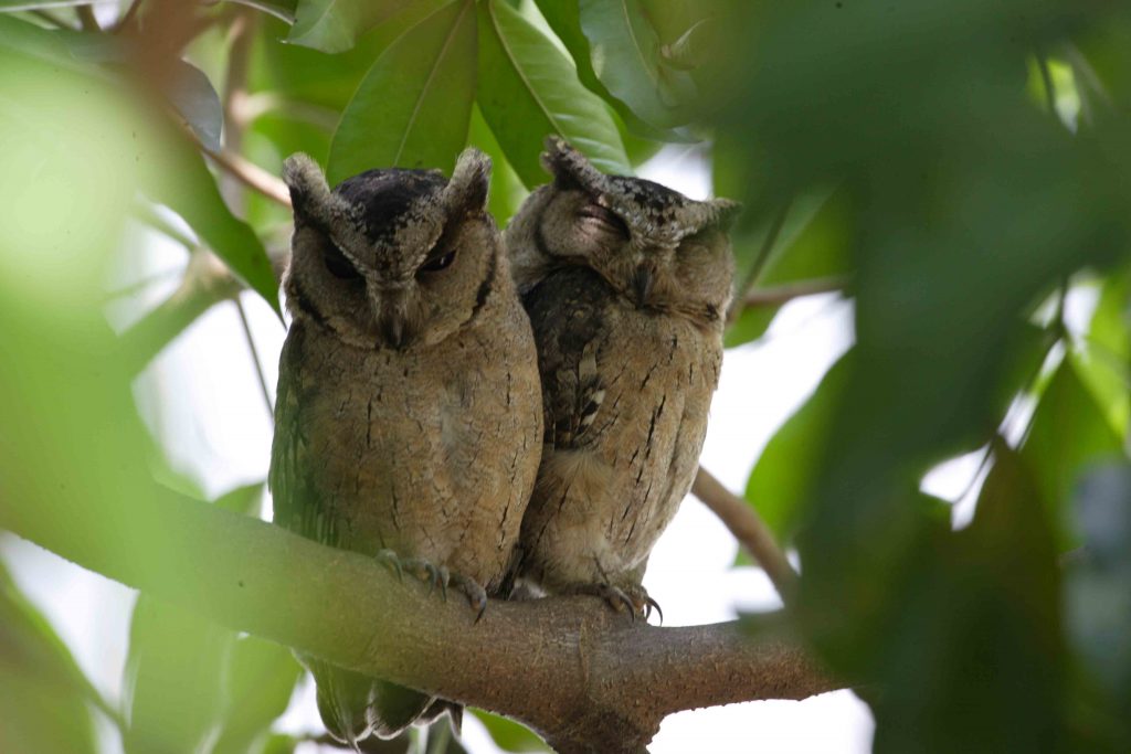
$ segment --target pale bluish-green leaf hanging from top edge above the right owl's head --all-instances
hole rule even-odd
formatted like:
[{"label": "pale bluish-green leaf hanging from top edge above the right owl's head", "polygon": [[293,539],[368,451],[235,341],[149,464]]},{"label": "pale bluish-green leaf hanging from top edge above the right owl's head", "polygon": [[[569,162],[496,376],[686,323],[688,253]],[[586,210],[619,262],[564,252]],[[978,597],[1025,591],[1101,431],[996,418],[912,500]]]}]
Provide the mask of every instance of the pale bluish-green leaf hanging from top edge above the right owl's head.
[{"label": "pale bluish-green leaf hanging from top edge above the right owl's head", "polygon": [[638,0],[580,0],[581,29],[593,69],[614,97],[659,128],[689,120],[697,94],[691,76],[667,64]]}]

